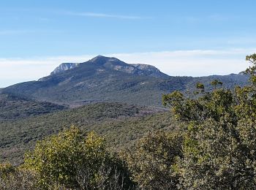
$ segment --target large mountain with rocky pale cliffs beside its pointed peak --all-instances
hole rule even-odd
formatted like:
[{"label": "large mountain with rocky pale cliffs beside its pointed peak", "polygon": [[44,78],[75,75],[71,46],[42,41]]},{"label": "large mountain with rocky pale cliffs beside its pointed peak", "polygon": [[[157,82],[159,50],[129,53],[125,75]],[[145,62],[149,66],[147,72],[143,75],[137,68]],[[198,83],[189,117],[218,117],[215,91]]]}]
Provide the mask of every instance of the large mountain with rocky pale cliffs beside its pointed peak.
[{"label": "large mountain with rocky pale cliffs beside its pointed peak", "polygon": [[118,58],[97,56],[80,64],[61,64],[38,81],[18,83],[2,89],[30,99],[77,106],[90,102],[127,102],[148,106],[162,105],[162,94],[186,91],[197,82],[211,89],[211,80],[221,80],[225,88],[244,86],[246,75],[170,77],[154,66],[127,64]]}]

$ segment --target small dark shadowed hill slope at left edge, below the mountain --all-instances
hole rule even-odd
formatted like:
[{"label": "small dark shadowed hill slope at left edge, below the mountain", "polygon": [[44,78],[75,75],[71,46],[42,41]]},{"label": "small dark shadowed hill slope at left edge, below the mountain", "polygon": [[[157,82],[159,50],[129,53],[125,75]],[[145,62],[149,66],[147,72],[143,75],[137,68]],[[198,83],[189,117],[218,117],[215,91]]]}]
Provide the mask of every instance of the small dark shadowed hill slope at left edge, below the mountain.
[{"label": "small dark shadowed hill slope at left edge, below the mountain", "polygon": [[67,107],[49,102],[37,102],[14,94],[0,94],[0,121],[53,113]]}]

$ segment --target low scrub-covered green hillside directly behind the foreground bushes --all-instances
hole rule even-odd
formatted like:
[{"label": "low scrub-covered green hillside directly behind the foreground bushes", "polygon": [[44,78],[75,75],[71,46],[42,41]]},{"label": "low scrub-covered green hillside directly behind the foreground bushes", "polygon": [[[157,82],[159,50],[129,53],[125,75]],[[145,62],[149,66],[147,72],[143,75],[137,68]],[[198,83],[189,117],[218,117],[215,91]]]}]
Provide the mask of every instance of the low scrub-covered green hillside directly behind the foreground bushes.
[{"label": "low scrub-covered green hillside directly behind the foreground bushes", "polygon": [[171,120],[170,113],[162,109],[97,103],[19,121],[0,121],[0,162],[20,163],[23,153],[34,148],[37,140],[72,124],[103,135],[113,150],[132,145],[148,131],[174,129]]}]

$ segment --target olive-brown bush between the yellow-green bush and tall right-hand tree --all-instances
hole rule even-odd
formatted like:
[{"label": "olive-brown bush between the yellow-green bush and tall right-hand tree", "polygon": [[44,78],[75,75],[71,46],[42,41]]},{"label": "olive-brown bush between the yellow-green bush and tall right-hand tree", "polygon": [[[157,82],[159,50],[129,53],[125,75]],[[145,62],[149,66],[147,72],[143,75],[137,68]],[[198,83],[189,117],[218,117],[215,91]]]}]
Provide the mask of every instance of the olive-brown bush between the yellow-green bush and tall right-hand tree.
[{"label": "olive-brown bush between the yellow-green bush and tall right-hand tree", "polygon": [[176,189],[179,176],[175,163],[182,154],[180,134],[156,132],[143,137],[122,157],[140,188]]}]

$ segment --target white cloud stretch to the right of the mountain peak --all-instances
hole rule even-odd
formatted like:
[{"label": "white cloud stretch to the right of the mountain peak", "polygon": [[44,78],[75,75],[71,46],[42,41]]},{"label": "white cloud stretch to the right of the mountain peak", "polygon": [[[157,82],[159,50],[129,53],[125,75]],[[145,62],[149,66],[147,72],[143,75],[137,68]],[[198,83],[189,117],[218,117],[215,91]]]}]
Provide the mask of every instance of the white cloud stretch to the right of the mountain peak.
[{"label": "white cloud stretch to the right of the mountain peak", "polygon": [[178,50],[116,54],[129,63],[151,64],[174,76],[227,75],[246,69],[245,56],[255,50]]}]

